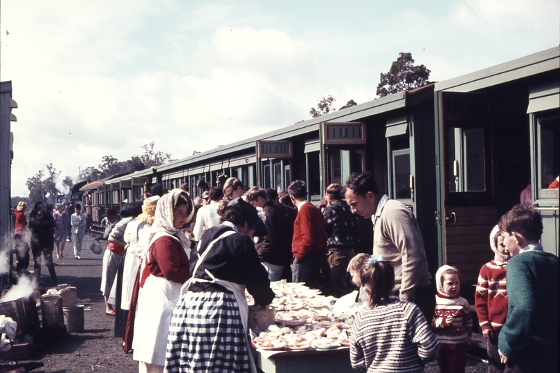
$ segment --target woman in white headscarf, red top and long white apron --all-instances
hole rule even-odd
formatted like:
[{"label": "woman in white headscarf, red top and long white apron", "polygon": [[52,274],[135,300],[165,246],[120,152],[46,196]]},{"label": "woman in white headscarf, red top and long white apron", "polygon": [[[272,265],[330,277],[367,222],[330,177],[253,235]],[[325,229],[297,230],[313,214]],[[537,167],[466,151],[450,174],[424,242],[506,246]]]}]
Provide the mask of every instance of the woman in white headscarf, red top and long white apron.
[{"label": "woman in white headscarf, red top and long white apron", "polygon": [[163,372],[165,347],[181,285],[190,278],[190,242],[182,229],[192,220],[190,196],[181,189],[163,195],[156,206],[150,249],[141,274],[134,325],[133,358],[138,370]]}]

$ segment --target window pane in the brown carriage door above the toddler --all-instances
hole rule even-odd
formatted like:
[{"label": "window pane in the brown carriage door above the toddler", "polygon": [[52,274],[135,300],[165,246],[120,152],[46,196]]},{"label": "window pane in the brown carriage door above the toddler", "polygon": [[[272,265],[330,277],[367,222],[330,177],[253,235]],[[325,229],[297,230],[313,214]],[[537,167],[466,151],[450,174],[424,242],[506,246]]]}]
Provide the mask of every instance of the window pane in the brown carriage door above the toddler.
[{"label": "window pane in the brown carriage door above the toddler", "polygon": [[449,191],[486,191],[483,128],[447,128]]}]

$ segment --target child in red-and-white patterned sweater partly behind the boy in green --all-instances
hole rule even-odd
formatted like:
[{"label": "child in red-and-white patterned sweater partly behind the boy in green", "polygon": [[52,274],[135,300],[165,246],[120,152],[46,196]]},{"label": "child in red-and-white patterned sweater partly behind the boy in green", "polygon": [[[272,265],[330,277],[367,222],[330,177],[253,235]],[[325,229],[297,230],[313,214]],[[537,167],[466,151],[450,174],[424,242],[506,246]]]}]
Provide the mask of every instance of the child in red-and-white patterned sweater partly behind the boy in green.
[{"label": "child in red-and-white patterned sweater partly behind the boy in green", "polygon": [[505,271],[512,257],[497,225],[490,233],[490,247],[494,251],[494,259],[480,268],[474,303],[482,335],[487,339],[488,372],[509,372],[505,364],[500,362],[498,334],[507,316]]}]

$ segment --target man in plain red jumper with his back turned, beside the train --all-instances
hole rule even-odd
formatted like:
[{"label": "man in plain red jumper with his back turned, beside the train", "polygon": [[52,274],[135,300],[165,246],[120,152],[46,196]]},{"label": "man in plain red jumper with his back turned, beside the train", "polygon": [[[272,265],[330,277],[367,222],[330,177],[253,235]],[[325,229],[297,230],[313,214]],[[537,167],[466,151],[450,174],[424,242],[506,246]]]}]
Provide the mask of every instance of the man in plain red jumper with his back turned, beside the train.
[{"label": "man in plain red jumper with his back turned, beside the train", "polygon": [[323,218],[323,213],[307,200],[305,182],[301,180],[292,182],[288,187],[288,193],[291,202],[298,208],[298,216],[293,223],[293,240],[291,242],[292,281],[317,288],[321,263],[327,251],[325,218]]}]

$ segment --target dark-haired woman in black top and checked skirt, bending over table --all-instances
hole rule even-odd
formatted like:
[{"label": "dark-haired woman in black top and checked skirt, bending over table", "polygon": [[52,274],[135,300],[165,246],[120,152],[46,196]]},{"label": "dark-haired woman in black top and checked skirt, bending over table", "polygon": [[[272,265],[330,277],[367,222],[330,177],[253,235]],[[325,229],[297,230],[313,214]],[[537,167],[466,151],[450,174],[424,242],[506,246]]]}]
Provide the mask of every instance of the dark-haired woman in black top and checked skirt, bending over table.
[{"label": "dark-haired woman in black top and checked skirt, bending over table", "polygon": [[192,251],[192,278],[173,314],[165,372],[256,372],[245,289],[255,305],[274,298],[250,237],[259,223],[255,207],[236,198]]}]

